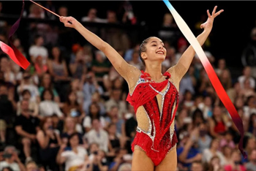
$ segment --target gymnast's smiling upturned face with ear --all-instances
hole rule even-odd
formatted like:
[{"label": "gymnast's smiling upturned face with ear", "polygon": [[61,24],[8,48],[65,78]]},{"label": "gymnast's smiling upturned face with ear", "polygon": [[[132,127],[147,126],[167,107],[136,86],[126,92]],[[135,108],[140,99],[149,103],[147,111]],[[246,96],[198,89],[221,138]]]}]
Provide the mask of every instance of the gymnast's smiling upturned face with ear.
[{"label": "gymnast's smiling upturned face with ear", "polygon": [[146,51],[141,53],[145,61],[164,61],[166,56],[165,45],[161,39],[151,37],[146,43]]}]

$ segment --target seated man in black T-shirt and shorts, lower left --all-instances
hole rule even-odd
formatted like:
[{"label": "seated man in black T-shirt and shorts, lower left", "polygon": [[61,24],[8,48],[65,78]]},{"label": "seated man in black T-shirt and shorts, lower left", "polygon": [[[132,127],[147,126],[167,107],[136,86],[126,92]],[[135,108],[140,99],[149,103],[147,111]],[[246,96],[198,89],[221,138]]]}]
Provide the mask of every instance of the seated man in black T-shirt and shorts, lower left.
[{"label": "seated man in black T-shirt and shorts, lower left", "polygon": [[23,100],[20,102],[21,114],[15,121],[15,130],[20,136],[23,144],[23,152],[26,156],[26,161],[31,161],[31,145],[34,145],[39,131],[39,119],[30,115],[29,102]]}]

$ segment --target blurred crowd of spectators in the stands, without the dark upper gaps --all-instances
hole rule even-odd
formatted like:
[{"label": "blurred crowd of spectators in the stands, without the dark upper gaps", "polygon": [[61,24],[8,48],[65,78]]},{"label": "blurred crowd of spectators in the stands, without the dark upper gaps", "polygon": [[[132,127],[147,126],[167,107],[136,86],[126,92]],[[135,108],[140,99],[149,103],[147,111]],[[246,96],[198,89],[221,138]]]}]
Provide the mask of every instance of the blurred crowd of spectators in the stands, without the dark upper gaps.
[{"label": "blurred crowd of spectators in the stands, without the dark upper gaps", "polygon": [[[46,1],[45,7],[68,16],[67,7]],[[81,22],[136,25],[132,5],[125,1],[122,17],[108,11],[106,18],[89,9]],[[2,9],[0,2],[0,14]],[[26,18],[57,20],[54,15],[31,4]],[[79,20],[79,18],[78,18]],[[165,42],[165,72],[175,65],[188,42],[178,31],[173,16],[162,18],[159,38]],[[202,20],[195,23],[200,30]],[[89,26],[112,45],[124,59],[139,69],[140,42],[131,43],[127,32]],[[29,23],[29,37],[14,35],[14,45],[31,62],[23,70],[0,51],[0,171],[129,171],[131,143],[137,121],[126,101],[129,89],[108,58],[88,42],[71,43],[69,28]],[[252,42],[256,42],[255,28]],[[0,40],[8,43],[10,24],[0,18]],[[26,42],[28,47],[21,42]],[[208,47],[206,56],[244,123],[244,159],[238,151],[240,135],[230,114],[219,100],[198,56],[181,80],[175,128],[178,136],[177,170],[255,171],[256,93],[252,67],[245,66],[233,77],[225,58],[216,58]],[[256,44],[255,44],[256,45]]]}]

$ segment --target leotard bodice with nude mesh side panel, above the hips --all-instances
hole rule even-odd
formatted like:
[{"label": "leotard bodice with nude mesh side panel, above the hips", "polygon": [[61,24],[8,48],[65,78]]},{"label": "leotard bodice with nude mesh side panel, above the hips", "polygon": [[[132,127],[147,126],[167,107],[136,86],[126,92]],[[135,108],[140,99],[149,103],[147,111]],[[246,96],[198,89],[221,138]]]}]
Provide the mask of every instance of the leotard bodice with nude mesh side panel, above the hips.
[{"label": "leotard bodice with nude mesh side panel, above the hips", "polygon": [[[170,74],[165,72],[166,80],[152,83],[142,72],[135,90],[127,96],[127,101],[135,108],[138,118],[138,132],[143,132],[152,140],[151,149],[165,148],[174,132],[173,120],[178,106],[178,91],[169,81]],[[157,96],[162,96],[157,98]],[[165,142],[164,142],[165,141]],[[170,145],[170,144],[169,144]]]}]

